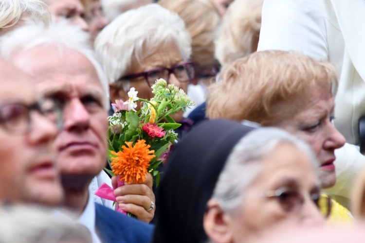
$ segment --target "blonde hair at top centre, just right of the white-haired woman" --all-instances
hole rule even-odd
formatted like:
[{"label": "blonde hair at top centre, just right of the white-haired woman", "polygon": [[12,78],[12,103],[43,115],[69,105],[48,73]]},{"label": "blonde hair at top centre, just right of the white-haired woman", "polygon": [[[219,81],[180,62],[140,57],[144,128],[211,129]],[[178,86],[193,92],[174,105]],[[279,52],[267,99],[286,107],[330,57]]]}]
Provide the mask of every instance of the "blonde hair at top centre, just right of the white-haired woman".
[{"label": "blonde hair at top centre, just right of the white-haired woman", "polygon": [[215,65],[214,38],[220,15],[211,0],[160,0],[164,8],[176,12],[190,33],[191,60],[202,67]]}]

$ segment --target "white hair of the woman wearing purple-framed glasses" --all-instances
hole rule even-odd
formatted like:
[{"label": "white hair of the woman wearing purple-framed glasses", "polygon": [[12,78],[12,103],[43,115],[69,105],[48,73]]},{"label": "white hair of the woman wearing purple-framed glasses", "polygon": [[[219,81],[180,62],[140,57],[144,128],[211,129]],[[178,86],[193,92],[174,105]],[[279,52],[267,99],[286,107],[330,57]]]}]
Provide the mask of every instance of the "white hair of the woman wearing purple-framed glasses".
[{"label": "white hair of the woman wearing purple-framed glasses", "polygon": [[141,64],[162,44],[171,42],[186,61],[191,54],[191,37],[183,19],[152,3],[115,18],[96,37],[95,51],[109,83],[114,83],[126,74],[132,58]]}]

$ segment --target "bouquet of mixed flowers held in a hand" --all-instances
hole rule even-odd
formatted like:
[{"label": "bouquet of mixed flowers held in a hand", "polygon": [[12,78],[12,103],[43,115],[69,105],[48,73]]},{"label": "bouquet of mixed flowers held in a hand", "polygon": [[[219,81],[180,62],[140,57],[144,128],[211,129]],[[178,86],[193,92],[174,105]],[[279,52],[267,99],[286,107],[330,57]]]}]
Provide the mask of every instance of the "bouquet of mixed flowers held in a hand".
[{"label": "bouquet of mixed flowers held in a hand", "polygon": [[[108,117],[108,162],[112,170],[106,171],[118,175],[118,186],[131,182],[139,184],[146,179],[147,173],[152,174],[158,186],[160,172],[157,167],[167,159],[177,140],[174,129],[181,125],[170,114],[184,111],[194,102],[182,89],[167,85],[164,79],[157,80],[152,86],[154,97],[149,101],[138,98],[137,93],[132,87],[128,101],[112,104],[115,113]],[[135,110],[137,101],[141,101],[138,111]],[[105,195],[102,197],[106,198]]]}]

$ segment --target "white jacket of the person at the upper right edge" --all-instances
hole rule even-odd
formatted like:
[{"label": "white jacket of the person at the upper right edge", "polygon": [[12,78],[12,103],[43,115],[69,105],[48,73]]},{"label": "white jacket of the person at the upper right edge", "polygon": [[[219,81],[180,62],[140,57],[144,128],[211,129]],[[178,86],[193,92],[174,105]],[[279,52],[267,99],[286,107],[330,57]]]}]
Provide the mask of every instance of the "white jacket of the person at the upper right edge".
[{"label": "white jacket of the person at the upper right edge", "polygon": [[348,144],[336,151],[336,185],[348,197],[365,167],[358,144],[358,120],[365,115],[365,0],[265,0],[258,51],[302,52],[335,65],[339,87],[336,128]]}]

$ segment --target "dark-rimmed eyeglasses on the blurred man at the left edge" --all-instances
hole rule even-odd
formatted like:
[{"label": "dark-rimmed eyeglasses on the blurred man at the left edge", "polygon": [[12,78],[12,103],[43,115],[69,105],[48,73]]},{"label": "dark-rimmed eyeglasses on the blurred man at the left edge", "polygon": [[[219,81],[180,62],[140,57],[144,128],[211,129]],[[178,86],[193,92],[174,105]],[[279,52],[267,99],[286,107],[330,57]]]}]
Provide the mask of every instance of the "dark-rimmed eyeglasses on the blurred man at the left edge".
[{"label": "dark-rimmed eyeglasses on the blurred man at the left edge", "polygon": [[34,104],[10,103],[0,105],[0,126],[11,134],[24,135],[32,129],[31,112],[37,111],[42,116],[62,126],[60,105],[51,98],[45,98]]}]

